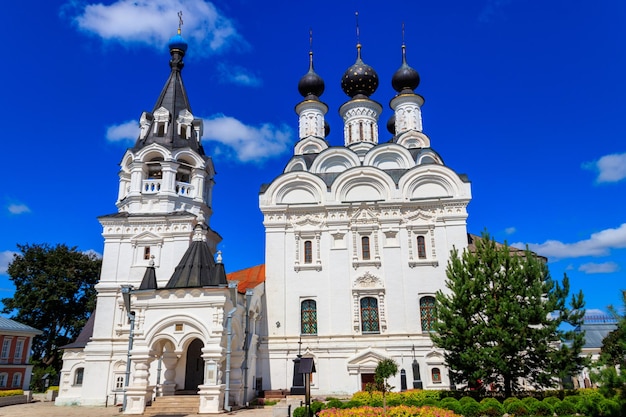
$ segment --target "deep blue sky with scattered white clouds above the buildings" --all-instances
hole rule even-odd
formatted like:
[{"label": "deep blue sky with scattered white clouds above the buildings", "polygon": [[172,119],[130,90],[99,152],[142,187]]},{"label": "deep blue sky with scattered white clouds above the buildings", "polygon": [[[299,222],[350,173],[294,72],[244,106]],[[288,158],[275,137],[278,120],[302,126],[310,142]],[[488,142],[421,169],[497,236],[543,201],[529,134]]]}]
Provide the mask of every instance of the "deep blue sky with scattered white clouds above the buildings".
[{"label": "deep blue sky with scattered white clouds above the buildings", "polygon": [[[550,259],[588,309],[626,289],[626,3],[579,0],[10,2],[0,95],[0,297],[18,243],[102,252],[99,215],[116,211],[118,163],[169,74],[183,11],[183,78],[217,170],[211,226],[228,271],[263,263],[262,183],[297,139],[298,80],[313,30],[332,145],[348,97],[343,72],[374,67],[381,140],[400,66],[426,99],[424,132],[472,181],[468,231]],[[11,46],[10,44],[13,44]]]}]

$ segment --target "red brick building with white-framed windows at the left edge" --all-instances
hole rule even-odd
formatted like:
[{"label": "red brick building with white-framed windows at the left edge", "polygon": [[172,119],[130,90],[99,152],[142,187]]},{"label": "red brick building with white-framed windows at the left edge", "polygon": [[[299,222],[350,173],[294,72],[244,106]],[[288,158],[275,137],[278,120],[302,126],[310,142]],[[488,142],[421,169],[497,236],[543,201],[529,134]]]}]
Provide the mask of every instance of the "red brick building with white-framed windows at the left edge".
[{"label": "red brick building with white-framed windows at the left edge", "polygon": [[29,389],[30,353],[33,338],[40,334],[41,330],[0,317],[0,390]]}]

